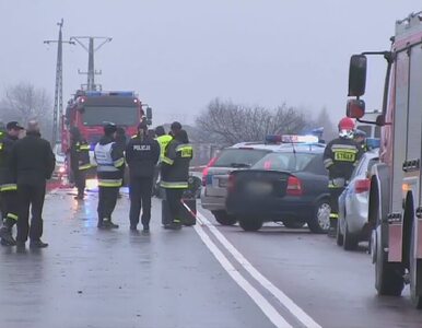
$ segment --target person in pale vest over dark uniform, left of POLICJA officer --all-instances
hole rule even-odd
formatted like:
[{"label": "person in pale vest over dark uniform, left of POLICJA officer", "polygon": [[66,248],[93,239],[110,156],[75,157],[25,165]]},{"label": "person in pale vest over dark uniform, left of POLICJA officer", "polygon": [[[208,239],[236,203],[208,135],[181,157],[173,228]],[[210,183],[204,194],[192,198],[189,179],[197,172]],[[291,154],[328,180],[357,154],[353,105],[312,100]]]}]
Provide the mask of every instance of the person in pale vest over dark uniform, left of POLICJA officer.
[{"label": "person in pale vest over dark uniform, left of POLICJA officer", "polygon": [[99,229],[117,229],[112,221],[119,188],[121,187],[121,167],[125,165],[122,150],[115,142],[117,127],[115,124],[104,126],[104,136],[95,145],[98,179],[98,224]]}]

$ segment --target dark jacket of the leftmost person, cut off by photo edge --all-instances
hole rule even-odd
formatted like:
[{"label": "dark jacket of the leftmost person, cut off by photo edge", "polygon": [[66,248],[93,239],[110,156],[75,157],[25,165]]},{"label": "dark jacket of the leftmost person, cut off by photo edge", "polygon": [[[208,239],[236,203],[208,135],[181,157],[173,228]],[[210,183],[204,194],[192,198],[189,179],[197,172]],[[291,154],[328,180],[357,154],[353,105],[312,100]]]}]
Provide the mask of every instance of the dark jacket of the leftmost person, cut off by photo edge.
[{"label": "dark jacket of the leftmost person, cut off by photo edge", "polygon": [[5,134],[0,140],[0,191],[16,190],[16,180],[10,169],[10,157],[16,137]]}]

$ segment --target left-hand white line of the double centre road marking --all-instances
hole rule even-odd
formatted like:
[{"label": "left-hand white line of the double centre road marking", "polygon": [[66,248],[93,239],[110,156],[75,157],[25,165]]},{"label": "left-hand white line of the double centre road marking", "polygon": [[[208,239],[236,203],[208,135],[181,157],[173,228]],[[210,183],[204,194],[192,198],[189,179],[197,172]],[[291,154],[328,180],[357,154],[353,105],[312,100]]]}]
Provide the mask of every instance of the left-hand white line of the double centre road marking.
[{"label": "left-hand white line of the double centre road marking", "polygon": [[279,312],[259,293],[242,274],[233,267],[224,254],[215,246],[201,225],[195,225],[195,231],[202,239],[203,244],[214,255],[220,265],[233,278],[233,280],[250,296],[263,314],[278,328],[292,328],[292,326],[279,314]]}]

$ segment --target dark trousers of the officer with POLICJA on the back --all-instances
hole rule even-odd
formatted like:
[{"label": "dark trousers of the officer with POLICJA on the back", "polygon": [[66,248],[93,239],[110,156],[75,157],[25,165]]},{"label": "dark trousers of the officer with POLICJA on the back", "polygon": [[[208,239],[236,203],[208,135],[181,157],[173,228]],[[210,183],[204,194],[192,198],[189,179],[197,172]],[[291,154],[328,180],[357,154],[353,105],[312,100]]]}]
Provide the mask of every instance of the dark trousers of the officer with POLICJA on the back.
[{"label": "dark trousers of the officer with POLICJA on the back", "polygon": [[142,225],[149,226],[151,220],[151,190],[153,177],[130,177],[130,225],[139,223],[142,208]]}]

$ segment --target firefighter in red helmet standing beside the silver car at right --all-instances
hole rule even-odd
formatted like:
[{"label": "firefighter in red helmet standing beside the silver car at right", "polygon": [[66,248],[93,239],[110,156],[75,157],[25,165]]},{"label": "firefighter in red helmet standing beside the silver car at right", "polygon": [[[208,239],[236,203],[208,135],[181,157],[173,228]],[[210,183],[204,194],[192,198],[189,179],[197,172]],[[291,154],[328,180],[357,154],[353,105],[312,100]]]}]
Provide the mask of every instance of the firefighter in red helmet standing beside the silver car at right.
[{"label": "firefighter in red helmet standing beside the silver car at right", "polygon": [[330,141],[324,151],[324,165],[329,173],[330,190],[330,227],[328,235],[336,236],[339,218],[339,196],[349,183],[355,164],[362,156],[363,150],[354,141],[354,121],[344,117],[339,122],[339,138]]}]

